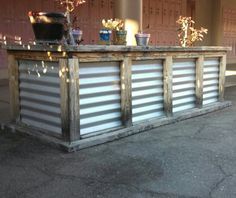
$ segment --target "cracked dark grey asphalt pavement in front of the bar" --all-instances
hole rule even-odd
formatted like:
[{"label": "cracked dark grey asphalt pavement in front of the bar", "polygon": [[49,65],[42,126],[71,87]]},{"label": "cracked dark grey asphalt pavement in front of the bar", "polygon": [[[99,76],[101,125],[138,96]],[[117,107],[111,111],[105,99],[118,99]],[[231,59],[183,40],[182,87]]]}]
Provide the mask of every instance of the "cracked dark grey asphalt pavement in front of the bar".
[{"label": "cracked dark grey asphalt pavement in front of the bar", "polygon": [[235,198],[236,87],[226,99],[232,107],[76,153],[1,131],[0,197]]}]

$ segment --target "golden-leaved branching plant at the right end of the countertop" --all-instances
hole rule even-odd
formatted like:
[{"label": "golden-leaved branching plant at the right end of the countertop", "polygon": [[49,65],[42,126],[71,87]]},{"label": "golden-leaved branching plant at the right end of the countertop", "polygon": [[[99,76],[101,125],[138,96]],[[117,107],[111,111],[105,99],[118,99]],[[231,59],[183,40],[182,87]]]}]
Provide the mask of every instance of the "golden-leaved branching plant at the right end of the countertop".
[{"label": "golden-leaved branching plant at the right end of the countertop", "polygon": [[196,41],[202,41],[204,37],[203,34],[207,34],[208,32],[208,30],[203,27],[201,27],[200,30],[195,29],[195,22],[191,17],[180,16],[176,23],[180,25],[178,37],[182,47],[190,47],[193,46]]}]

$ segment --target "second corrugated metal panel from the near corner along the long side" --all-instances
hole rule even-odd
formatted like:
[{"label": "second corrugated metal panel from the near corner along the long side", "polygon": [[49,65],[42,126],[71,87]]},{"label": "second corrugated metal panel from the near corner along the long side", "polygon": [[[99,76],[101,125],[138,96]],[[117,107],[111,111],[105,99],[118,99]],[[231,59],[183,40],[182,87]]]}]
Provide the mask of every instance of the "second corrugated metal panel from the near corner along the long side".
[{"label": "second corrugated metal panel from the near corner along the long side", "polygon": [[133,61],[133,122],[161,117],[163,105],[163,64],[161,60]]}]

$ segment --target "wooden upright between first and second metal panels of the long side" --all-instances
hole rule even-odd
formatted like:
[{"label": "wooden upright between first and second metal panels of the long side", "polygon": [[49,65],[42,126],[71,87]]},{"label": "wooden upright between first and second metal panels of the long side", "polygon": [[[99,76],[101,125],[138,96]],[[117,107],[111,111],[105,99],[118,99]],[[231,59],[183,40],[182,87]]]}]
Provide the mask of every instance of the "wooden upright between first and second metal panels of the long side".
[{"label": "wooden upright between first and second metal panels of the long side", "polygon": [[124,126],[132,126],[132,60],[128,57],[120,64],[121,115]]}]

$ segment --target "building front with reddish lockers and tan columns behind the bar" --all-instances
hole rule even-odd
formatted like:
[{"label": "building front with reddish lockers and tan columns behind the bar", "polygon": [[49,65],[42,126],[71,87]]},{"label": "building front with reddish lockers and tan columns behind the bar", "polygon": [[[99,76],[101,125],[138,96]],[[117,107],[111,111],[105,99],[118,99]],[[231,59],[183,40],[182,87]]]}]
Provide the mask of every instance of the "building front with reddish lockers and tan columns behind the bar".
[{"label": "building front with reddish lockers and tan columns behind the bar", "polygon": [[[23,43],[34,40],[27,13],[35,11],[63,11],[54,0],[2,0],[0,37]],[[139,5],[136,5],[139,4]],[[142,13],[138,6],[142,7]],[[125,10],[125,11],[124,11]],[[201,45],[231,46],[228,63],[236,63],[236,1],[235,0],[87,0],[74,11],[83,30],[83,43],[98,43],[101,20],[114,17],[138,19],[142,29],[151,34],[150,44],[178,45],[176,20],[180,15],[192,16],[196,27],[209,30]],[[6,54],[0,53],[0,79],[7,78]]]}]

